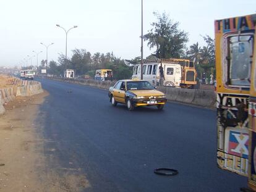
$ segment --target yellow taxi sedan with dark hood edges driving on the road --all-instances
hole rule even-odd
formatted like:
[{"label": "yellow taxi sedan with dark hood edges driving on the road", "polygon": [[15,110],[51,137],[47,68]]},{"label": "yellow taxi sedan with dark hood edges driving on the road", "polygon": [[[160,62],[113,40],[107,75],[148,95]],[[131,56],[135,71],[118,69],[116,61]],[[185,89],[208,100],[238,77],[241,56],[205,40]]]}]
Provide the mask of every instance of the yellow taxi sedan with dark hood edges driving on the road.
[{"label": "yellow taxi sedan with dark hood edges driving on the road", "polygon": [[119,80],[109,88],[108,96],[113,106],[126,104],[130,111],[139,106],[156,106],[162,110],[167,102],[164,93],[144,80]]}]

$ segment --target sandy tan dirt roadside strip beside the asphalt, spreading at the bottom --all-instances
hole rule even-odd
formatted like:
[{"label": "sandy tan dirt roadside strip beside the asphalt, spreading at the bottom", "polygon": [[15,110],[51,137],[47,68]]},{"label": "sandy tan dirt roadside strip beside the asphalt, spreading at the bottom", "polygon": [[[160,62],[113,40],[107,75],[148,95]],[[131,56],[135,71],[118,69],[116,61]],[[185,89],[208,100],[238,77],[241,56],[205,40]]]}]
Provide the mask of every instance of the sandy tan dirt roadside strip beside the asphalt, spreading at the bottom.
[{"label": "sandy tan dirt roadside strip beside the asphalt, spreading at the bottom", "polygon": [[60,174],[47,165],[47,141],[35,122],[47,95],[16,98],[4,105],[6,114],[0,116],[0,191],[75,192],[90,188],[82,173]]}]

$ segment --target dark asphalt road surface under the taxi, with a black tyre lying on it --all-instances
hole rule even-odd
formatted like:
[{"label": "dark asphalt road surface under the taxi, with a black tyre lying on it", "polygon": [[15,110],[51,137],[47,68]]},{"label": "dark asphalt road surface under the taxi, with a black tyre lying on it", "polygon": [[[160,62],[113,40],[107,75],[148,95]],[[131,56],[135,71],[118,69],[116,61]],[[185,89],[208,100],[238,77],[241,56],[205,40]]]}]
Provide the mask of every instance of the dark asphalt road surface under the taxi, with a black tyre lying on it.
[{"label": "dark asphalt road surface under the taxi, with a black tyre lying on it", "polygon": [[[40,108],[54,168],[77,170],[85,191],[239,191],[247,178],[216,166],[216,112],[168,103],[163,111],[111,106],[108,91],[40,80],[49,92]],[[70,93],[71,92],[71,93]],[[176,176],[155,175],[158,167]]]}]

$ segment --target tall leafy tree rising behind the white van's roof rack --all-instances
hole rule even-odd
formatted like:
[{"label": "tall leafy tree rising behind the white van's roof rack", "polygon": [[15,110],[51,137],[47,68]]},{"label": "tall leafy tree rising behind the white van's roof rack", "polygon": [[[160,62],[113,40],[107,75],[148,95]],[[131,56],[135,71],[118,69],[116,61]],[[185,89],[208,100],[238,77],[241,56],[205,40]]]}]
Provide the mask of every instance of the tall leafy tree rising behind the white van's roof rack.
[{"label": "tall leafy tree rising behind the white van's roof rack", "polygon": [[162,15],[153,12],[157,22],[151,23],[150,31],[144,35],[149,48],[156,48],[155,56],[161,59],[180,58],[184,55],[189,40],[185,31],[178,29],[179,23],[173,22],[164,12]]}]

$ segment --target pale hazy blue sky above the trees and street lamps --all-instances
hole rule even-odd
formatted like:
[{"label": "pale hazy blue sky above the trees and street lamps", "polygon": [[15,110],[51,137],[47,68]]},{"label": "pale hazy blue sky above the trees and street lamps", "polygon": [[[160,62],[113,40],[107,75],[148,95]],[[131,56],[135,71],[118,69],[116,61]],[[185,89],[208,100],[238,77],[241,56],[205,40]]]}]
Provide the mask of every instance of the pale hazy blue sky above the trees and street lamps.
[{"label": "pale hazy blue sky above the trees and street lamps", "polygon": [[[141,0],[0,0],[0,66],[25,66],[32,57],[36,65],[46,59],[57,61],[72,49],[112,52],[121,59],[140,56]],[[205,45],[201,35],[214,38],[214,20],[256,13],[256,0],[143,0],[143,33],[156,21],[153,12],[166,12],[169,19],[179,22],[179,29],[189,33],[191,44]],[[144,57],[155,50],[144,42]],[[35,57],[33,57],[35,56]],[[29,60],[28,65],[31,64]]]}]

